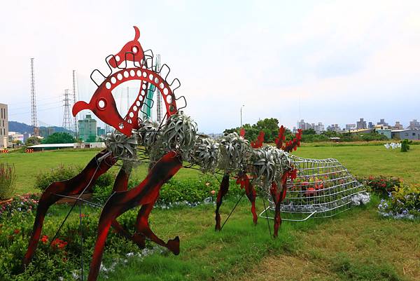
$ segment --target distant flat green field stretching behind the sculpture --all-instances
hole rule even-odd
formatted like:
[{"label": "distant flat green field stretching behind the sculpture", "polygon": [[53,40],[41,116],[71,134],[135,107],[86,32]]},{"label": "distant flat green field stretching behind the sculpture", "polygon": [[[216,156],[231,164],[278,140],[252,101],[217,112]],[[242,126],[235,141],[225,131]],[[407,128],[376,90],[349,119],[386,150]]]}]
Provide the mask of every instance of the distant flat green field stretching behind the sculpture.
[{"label": "distant flat green field stretching behind the sculpture", "polygon": [[[57,165],[86,165],[98,151],[48,151],[40,153],[0,154],[0,162],[14,163],[18,180],[16,193],[36,192],[34,177]],[[409,183],[420,182],[420,146],[411,146],[408,153],[377,146],[303,146],[295,151],[305,158],[336,158],[356,176],[386,175],[401,177]],[[113,168],[116,172],[116,168]],[[146,176],[147,166],[137,167],[135,177]],[[200,172],[181,169],[175,177],[197,178]]]}]

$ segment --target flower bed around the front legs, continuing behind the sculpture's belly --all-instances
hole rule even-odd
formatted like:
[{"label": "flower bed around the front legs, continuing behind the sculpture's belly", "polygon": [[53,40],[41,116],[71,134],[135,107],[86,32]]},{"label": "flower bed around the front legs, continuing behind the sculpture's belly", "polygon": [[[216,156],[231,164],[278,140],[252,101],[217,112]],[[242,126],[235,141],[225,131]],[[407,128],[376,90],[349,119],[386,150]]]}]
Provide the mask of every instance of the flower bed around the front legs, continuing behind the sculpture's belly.
[{"label": "flower bed around the front legs, continuing behind the sculpture's belly", "polygon": [[[232,181],[229,196],[237,196],[241,191]],[[134,181],[130,184],[134,185]],[[172,179],[162,186],[157,207],[195,207],[202,203],[214,203],[219,183],[216,179],[203,176],[197,181]],[[96,196],[111,194],[112,186],[95,187]],[[57,238],[52,240],[64,215],[69,210],[62,205],[50,209],[45,219],[41,240],[31,264],[25,272],[21,272],[23,255],[34,224],[34,216],[38,203],[38,194],[15,196],[13,200],[0,206],[0,280],[78,280],[80,278],[80,233],[83,233],[83,260],[85,268],[90,264],[96,240],[97,223],[100,210],[84,207],[87,213],[82,214],[83,228],[80,231],[79,218],[73,214],[64,224]],[[134,229],[137,210],[130,210],[118,218],[120,224],[127,229]],[[102,274],[106,275],[118,264],[127,263],[127,259],[139,259],[153,252],[161,251],[161,247],[141,250],[132,242],[121,238],[110,231],[106,240],[109,249],[104,254]],[[86,270],[85,270],[86,274]]]}]

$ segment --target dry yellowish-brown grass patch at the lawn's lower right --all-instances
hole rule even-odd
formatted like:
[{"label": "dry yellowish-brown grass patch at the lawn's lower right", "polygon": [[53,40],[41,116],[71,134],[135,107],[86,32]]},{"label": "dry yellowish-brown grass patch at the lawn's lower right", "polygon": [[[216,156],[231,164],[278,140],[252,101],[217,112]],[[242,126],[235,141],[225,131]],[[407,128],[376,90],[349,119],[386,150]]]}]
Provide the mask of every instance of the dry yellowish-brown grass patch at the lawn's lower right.
[{"label": "dry yellowish-brown grass patch at the lawn's lower right", "polygon": [[293,233],[295,254],[267,256],[241,280],[420,280],[420,224],[375,210]]}]

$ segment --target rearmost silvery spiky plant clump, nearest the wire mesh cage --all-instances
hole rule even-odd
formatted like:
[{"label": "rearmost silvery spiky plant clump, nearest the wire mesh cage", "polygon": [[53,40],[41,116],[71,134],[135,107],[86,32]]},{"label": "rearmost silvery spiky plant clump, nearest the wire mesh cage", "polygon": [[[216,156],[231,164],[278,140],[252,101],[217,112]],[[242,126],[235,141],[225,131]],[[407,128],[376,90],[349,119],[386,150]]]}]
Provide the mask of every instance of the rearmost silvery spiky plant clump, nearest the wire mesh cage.
[{"label": "rearmost silvery spiky plant clump, nearest the wire mesh cage", "polygon": [[251,157],[255,183],[269,190],[272,183],[280,184],[283,174],[290,170],[290,159],[281,149],[262,146],[254,149]]}]

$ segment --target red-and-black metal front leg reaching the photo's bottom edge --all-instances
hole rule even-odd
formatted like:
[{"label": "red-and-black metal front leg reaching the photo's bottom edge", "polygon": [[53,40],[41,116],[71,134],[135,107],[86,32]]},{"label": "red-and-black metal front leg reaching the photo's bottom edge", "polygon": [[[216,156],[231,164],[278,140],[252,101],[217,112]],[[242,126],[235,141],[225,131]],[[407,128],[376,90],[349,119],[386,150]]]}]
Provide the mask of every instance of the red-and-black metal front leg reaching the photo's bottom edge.
[{"label": "red-and-black metal front leg reaching the photo's bottom edge", "polygon": [[174,151],[171,151],[158,160],[139,186],[130,191],[114,193],[109,198],[99,218],[97,242],[94,247],[92,262],[90,263],[88,281],[97,280],[111,221],[133,207],[153,204],[158,198],[162,184],[165,184],[166,181],[173,177],[181,167],[181,158]]}]

